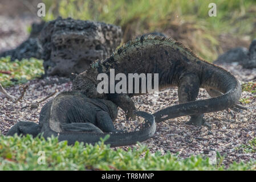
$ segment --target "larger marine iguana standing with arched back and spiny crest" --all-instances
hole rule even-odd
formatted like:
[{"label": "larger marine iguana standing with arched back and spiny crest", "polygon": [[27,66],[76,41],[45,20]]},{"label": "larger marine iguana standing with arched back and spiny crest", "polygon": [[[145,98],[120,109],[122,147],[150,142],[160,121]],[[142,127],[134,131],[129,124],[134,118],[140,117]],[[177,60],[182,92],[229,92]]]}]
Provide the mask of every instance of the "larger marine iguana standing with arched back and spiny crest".
[{"label": "larger marine iguana standing with arched back and spiny crest", "polygon": [[[233,110],[245,109],[235,104],[242,89],[231,73],[208,63],[171,38],[152,35],[136,38],[117,49],[107,59],[94,61],[90,68],[73,81],[73,90],[79,90],[87,97],[111,100],[127,113],[127,117],[133,117],[132,111],[136,107],[130,97],[138,94],[97,92],[96,87],[100,82],[97,81],[97,75],[106,73],[109,78],[111,68],[115,69],[115,74],[124,73],[127,77],[128,73],[159,73],[159,90],[178,86],[180,104],[157,111],[153,114],[156,122],[190,115],[188,124],[201,126],[205,122],[204,113],[229,107]],[[199,88],[205,88],[214,98],[195,101]]]}]

